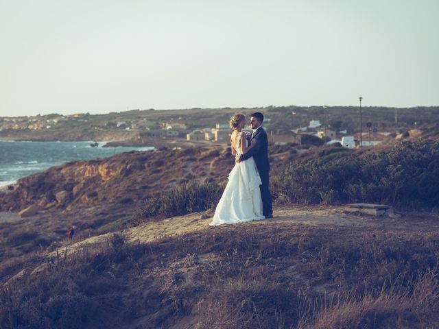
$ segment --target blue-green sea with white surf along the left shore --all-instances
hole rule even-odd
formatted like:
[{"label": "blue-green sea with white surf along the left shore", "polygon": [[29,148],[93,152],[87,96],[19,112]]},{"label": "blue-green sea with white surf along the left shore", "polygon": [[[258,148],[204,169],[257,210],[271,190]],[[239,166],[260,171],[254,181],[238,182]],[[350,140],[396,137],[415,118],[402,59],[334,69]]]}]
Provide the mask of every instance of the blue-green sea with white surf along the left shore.
[{"label": "blue-green sea with white surf along the left shore", "polygon": [[107,158],[127,151],[151,151],[154,147],[102,147],[107,142],[0,141],[0,186],[75,160]]}]

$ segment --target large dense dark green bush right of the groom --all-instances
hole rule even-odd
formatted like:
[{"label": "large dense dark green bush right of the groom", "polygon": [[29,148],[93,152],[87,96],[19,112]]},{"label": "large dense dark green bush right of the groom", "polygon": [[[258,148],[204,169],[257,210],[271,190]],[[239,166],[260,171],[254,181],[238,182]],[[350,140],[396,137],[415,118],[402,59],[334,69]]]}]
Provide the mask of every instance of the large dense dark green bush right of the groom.
[{"label": "large dense dark green bush right of the groom", "polygon": [[439,143],[403,141],[388,151],[340,148],[289,164],[272,180],[274,195],[299,204],[370,202],[433,208],[439,203]]}]

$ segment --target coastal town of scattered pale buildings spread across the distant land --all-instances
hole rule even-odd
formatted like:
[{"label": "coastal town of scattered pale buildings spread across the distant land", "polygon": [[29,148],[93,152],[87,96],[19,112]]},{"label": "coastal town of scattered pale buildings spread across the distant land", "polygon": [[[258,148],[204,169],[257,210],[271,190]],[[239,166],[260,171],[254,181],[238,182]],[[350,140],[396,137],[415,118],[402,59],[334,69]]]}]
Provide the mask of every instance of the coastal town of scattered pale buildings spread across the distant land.
[{"label": "coastal town of scattered pale buildings spread across the distant land", "polygon": [[[365,115],[363,126],[352,108],[326,107],[298,108],[225,108],[190,110],[129,110],[110,114],[79,113],[71,115],[47,114],[32,117],[0,117],[0,139],[15,141],[111,141],[117,145],[163,146],[169,144],[230,143],[228,118],[236,112],[248,116],[254,110],[265,113],[263,127],[268,132],[270,143],[297,145],[332,145],[339,143],[348,148],[372,147],[408,136],[422,134],[428,125],[425,121],[414,121],[416,109],[388,108],[377,117]],[[375,110],[375,112],[374,112]],[[430,108],[437,112],[437,108]],[[391,119],[389,113],[395,112]],[[409,114],[409,115],[407,115]],[[371,118],[375,119],[375,122]],[[401,118],[402,117],[402,118]],[[370,120],[370,121],[369,121]],[[379,121],[379,122],[377,122]],[[69,131],[69,134],[66,134]]]}]

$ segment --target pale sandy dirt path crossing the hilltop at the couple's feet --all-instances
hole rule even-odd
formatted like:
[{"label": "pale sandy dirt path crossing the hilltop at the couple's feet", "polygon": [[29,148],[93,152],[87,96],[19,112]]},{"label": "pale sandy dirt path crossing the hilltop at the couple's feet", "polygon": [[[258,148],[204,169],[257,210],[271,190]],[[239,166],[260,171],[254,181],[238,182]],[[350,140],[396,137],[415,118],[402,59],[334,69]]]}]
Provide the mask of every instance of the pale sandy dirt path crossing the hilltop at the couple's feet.
[{"label": "pale sandy dirt path crossing the hilltop at the couple's feet", "polygon": [[[408,213],[400,218],[374,217],[348,212],[346,207],[297,207],[281,206],[274,209],[274,219],[251,221],[245,225],[266,225],[267,223],[291,223],[309,226],[344,227],[355,230],[381,230],[383,232],[438,232],[439,215],[428,213]],[[171,217],[162,221],[150,221],[141,226],[112,232],[99,236],[92,236],[67,246],[68,254],[78,252],[84,245],[104,245],[112,234],[121,234],[128,243],[151,243],[165,238],[182,236],[191,232],[209,230],[212,220],[212,210],[208,212]],[[242,224],[237,224],[242,225]],[[99,248],[93,248],[99,249]],[[62,251],[63,252],[63,251]],[[48,258],[55,258],[56,252],[47,254]],[[40,265],[34,272],[44,269]],[[14,278],[17,278],[15,276]]]}]

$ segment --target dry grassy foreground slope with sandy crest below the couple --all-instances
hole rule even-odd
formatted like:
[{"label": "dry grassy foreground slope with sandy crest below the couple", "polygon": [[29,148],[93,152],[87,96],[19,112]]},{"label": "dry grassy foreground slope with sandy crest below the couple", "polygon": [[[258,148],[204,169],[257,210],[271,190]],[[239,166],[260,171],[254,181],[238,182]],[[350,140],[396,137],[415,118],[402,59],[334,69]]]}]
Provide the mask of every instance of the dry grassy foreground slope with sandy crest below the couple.
[{"label": "dry grassy foreground slope with sandy crest below the couple", "polygon": [[36,255],[3,286],[1,328],[436,328],[437,224],[280,213],[174,217]]}]

